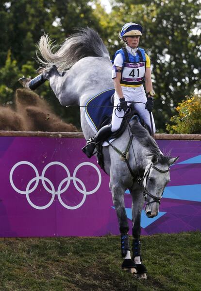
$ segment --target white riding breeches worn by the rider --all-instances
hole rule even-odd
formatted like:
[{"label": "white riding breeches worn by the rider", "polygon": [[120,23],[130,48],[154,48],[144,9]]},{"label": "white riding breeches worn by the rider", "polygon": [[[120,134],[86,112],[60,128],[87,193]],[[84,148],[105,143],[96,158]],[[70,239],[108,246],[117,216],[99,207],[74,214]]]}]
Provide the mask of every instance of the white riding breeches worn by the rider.
[{"label": "white riding breeches worn by the rider", "polygon": [[[121,86],[121,88],[122,88],[122,92],[123,92],[123,96],[125,98],[125,101],[135,101],[135,102],[144,102],[144,103],[147,102],[147,97],[146,97],[143,85],[141,85],[139,87]],[[115,98],[114,106],[117,106],[117,104],[119,104],[119,98],[117,96],[116,91],[115,91],[114,98]],[[130,104],[128,103],[128,105],[130,105]],[[121,110],[120,112],[116,110],[116,112],[115,112],[115,109],[116,109],[116,107],[114,107],[113,113],[112,113],[112,127],[111,127],[112,132],[119,129],[121,122],[122,122],[122,118],[119,118],[119,117],[124,116],[123,110]],[[142,104],[142,103],[134,104],[134,109],[137,111],[140,118],[142,118],[144,120],[144,122],[151,128],[150,113],[148,112],[147,109],[145,109],[145,104]],[[154,123],[152,113],[151,113],[151,118],[152,118],[152,123],[153,123],[153,132],[155,132],[156,128],[155,128],[155,123]]]}]

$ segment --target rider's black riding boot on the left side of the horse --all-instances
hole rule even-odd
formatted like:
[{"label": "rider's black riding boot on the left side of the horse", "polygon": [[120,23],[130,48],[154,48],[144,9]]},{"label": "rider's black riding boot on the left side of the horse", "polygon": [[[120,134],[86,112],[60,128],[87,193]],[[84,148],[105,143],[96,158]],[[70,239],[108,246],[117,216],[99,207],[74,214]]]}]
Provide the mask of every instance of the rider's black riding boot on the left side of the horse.
[{"label": "rider's black riding boot on the left side of the horse", "polygon": [[112,134],[111,125],[110,126],[106,125],[104,127],[101,127],[99,131],[97,132],[97,134],[93,136],[82,148],[82,151],[88,158],[91,158],[93,156],[93,152],[96,145],[100,143],[101,141],[106,140],[111,134]]}]

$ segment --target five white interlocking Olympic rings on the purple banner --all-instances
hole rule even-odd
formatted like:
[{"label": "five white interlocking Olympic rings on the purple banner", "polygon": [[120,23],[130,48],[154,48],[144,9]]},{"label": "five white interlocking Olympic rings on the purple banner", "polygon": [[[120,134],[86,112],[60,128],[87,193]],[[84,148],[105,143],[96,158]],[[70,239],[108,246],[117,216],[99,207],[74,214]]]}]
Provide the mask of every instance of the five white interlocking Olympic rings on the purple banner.
[{"label": "five white interlocking Olympic rings on the purple banner", "polygon": [[[19,165],[22,165],[22,164],[27,164],[27,165],[31,166],[31,167],[33,168],[34,172],[35,172],[35,177],[34,177],[32,180],[30,180],[30,181],[28,182],[25,191],[22,191],[22,190],[18,189],[18,188],[15,186],[14,182],[13,182],[13,173],[14,173],[14,171],[16,170],[16,168],[17,168]],[[60,166],[62,166],[62,167],[65,169],[66,173],[67,173],[67,178],[63,179],[63,180],[60,182],[57,191],[55,191],[55,188],[54,188],[53,183],[52,183],[48,178],[45,177],[46,170],[47,170],[50,166],[52,166],[52,165],[60,165]],[[98,177],[99,177],[99,181],[98,181],[97,186],[96,186],[93,190],[88,191],[88,192],[86,191],[86,187],[85,187],[85,185],[84,185],[84,182],[81,181],[79,178],[76,177],[77,171],[78,171],[82,166],[84,166],[84,165],[92,166],[92,167],[97,171],[97,173],[98,173]],[[84,204],[84,201],[86,200],[86,196],[95,193],[95,192],[100,188],[100,186],[101,186],[101,172],[100,172],[99,168],[98,168],[95,164],[92,164],[92,163],[89,163],[89,162],[84,162],[84,163],[81,163],[81,164],[77,165],[76,168],[75,168],[75,170],[74,170],[74,172],[73,172],[73,175],[72,175],[72,177],[71,177],[71,176],[70,176],[70,172],[69,172],[67,166],[66,166],[65,164],[60,163],[60,162],[51,162],[51,163],[47,164],[47,165],[44,167],[41,176],[39,176],[38,170],[37,170],[37,168],[34,166],[34,164],[32,164],[32,163],[30,163],[30,162],[27,162],[27,161],[21,161],[21,162],[18,162],[17,164],[15,164],[15,165],[12,167],[12,169],[11,169],[11,171],[10,171],[10,177],[9,177],[9,178],[10,178],[10,183],[11,183],[11,186],[13,187],[13,189],[14,189],[17,193],[19,193],[19,194],[26,195],[26,198],[27,198],[27,201],[29,202],[29,204],[30,204],[33,208],[35,208],[35,209],[39,209],[39,210],[43,210],[43,209],[46,209],[46,208],[50,207],[50,205],[51,205],[52,202],[54,201],[55,195],[57,195],[58,200],[60,201],[60,203],[61,203],[65,208],[70,209],[70,210],[78,209],[78,208],[80,208],[80,207]],[[31,201],[31,199],[30,199],[30,197],[29,197],[29,194],[31,194],[31,193],[36,189],[36,187],[38,186],[38,183],[39,183],[40,180],[41,180],[41,182],[42,182],[42,184],[43,184],[43,187],[46,189],[46,191],[52,195],[50,202],[49,202],[48,204],[44,205],[44,206],[37,206],[37,205],[35,205],[35,204]],[[67,190],[67,188],[68,188],[69,185],[70,185],[70,181],[71,181],[71,180],[73,181],[73,184],[74,184],[75,188],[78,190],[78,192],[80,192],[81,194],[83,194],[83,199],[82,199],[82,201],[81,201],[79,204],[75,205],[75,206],[69,206],[69,205],[67,205],[66,203],[64,203],[64,201],[63,201],[62,198],[61,198],[61,194],[64,193],[64,192]],[[30,188],[33,182],[35,182],[35,183],[34,183],[33,187]],[[66,182],[67,182],[67,183],[66,183]],[[80,185],[82,186],[82,189],[78,186],[77,182],[80,183]],[[46,183],[49,184],[49,187],[50,187],[50,188],[47,186]],[[65,187],[62,188],[62,186],[63,186],[64,183],[66,183],[66,185],[65,185]]]}]

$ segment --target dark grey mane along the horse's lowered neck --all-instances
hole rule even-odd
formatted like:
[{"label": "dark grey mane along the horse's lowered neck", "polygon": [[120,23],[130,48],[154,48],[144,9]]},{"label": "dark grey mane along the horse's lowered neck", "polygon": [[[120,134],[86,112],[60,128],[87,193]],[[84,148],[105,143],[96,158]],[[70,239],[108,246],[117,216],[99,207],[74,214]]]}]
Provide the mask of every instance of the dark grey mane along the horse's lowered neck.
[{"label": "dark grey mane along the horse's lowered neck", "polygon": [[149,151],[150,156],[155,156],[157,158],[157,162],[160,164],[167,164],[169,160],[169,153],[164,156],[156,141],[151,137],[148,130],[143,127],[138,121],[131,124],[131,131],[137,141],[144,147],[146,147]]}]

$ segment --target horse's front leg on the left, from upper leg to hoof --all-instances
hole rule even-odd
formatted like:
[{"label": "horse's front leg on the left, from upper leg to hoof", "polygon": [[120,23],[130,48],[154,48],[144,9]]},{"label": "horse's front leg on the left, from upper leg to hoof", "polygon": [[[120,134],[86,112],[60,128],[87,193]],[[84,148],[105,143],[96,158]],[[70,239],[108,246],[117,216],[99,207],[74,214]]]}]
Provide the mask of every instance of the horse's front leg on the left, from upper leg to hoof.
[{"label": "horse's front leg on the left, from upper leg to hoof", "polygon": [[113,184],[112,187],[110,183],[110,188],[112,190],[113,203],[117,213],[119,230],[121,233],[121,255],[124,259],[121,267],[122,269],[128,270],[130,273],[134,273],[135,264],[131,259],[128,236],[129,224],[124,203],[125,188],[120,183]]}]

